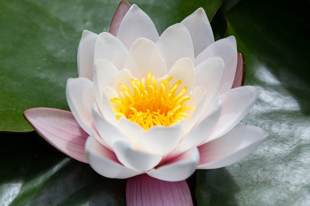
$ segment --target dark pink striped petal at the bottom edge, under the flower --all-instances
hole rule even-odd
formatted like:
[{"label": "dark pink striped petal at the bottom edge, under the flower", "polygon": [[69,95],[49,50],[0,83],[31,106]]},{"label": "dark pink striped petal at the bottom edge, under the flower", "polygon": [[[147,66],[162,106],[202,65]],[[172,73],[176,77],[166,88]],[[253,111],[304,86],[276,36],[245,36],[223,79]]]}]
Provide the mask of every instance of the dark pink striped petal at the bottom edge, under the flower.
[{"label": "dark pink striped petal at the bottom edge, under the flower", "polygon": [[185,180],[165,182],[141,174],[127,180],[126,205],[193,206],[193,201]]}]

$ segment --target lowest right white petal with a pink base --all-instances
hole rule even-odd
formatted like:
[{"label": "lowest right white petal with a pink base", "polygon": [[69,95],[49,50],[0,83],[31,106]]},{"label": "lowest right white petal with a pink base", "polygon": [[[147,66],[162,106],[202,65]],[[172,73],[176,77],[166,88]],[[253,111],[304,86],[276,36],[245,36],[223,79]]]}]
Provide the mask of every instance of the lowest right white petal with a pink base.
[{"label": "lowest right white petal with a pink base", "polygon": [[235,127],[225,135],[198,147],[198,169],[215,169],[231,165],[248,156],[267,138],[268,133],[256,126]]}]

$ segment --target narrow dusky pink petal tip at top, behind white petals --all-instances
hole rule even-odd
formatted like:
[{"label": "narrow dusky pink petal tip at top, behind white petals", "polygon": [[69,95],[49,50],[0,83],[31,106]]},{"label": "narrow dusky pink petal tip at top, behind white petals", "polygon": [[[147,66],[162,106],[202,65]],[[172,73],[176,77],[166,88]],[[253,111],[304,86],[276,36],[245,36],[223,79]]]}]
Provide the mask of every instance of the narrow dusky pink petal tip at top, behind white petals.
[{"label": "narrow dusky pink petal tip at top, behind white petals", "polygon": [[119,25],[122,22],[124,16],[126,15],[127,11],[129,10],[130,6],[130,3],[125,0],[122,0],[117,6],[109,30],[109,33],[111,33],[115,37],[117,35]]}]

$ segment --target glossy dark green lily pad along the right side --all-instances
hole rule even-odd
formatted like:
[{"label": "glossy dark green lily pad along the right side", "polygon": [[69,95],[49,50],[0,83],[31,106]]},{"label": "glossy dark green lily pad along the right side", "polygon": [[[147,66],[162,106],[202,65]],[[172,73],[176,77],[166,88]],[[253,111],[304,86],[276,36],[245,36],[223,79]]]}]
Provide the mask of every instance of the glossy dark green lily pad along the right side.
[{"label": "glossy dark green lily pad along the right side", "polygon": [[270,136],[231,166],[198,172],[200,206],[310,205],[309,1],[242,1],[228,33],[246,57],[246,84],[262,87],[241,124]]}]

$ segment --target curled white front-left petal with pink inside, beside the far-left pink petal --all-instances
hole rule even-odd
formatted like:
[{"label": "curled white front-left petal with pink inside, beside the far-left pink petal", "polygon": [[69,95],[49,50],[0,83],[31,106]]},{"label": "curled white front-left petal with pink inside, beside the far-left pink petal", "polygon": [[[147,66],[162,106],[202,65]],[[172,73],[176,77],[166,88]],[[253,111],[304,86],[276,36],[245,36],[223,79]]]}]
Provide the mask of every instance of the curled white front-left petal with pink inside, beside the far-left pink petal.
[{"label": "curled white front-left petal with pink inside, beside the far-left pink petal", "polygon": [[121,165],[113,152],[92,137],[86,140],[85,152],[91,167],[104,177],[125,179],[142,173]]}]

